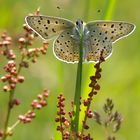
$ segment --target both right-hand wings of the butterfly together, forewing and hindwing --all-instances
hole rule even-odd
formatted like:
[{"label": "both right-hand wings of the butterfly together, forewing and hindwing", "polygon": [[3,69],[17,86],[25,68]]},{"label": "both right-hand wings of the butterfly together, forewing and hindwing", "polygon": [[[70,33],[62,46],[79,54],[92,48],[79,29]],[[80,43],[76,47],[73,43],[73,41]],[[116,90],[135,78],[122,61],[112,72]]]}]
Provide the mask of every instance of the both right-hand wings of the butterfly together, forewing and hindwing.
[{"label": "both right-hand wings of the butterfly together, forewing and hindwing", "polygon": [[87,61],[97,62],[101,51],[107,59],[112,53],[112,43],[128,36],[135,25],[126,22],[95,21],[86,24],[87,35]]}]

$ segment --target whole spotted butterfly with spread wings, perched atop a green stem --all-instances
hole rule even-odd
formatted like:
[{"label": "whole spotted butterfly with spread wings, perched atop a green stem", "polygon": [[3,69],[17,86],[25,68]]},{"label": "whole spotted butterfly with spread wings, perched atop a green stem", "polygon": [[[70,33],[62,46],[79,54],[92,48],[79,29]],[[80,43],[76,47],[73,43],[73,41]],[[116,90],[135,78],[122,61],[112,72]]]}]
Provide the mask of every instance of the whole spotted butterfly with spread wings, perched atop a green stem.
[{"label": "whole spotted butterfly with spread wings, perched atop a green stem", "polygon": [[80,33],[82,32],[83,62],[95,62],[112,54],[112,44],[130,35],[135,25],[123,21],[91,21],[83,23],[51,16],[27,16],[26,24],[42,39],[56,37],[53,52],[56,58],[67,63],[78,63]]}]

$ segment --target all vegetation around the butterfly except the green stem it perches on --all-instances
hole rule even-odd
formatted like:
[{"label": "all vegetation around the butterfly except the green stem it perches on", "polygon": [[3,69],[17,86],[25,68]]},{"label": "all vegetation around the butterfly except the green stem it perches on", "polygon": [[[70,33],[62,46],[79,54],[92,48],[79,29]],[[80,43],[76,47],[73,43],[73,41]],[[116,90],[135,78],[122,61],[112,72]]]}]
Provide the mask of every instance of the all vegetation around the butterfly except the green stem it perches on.
[{"label": "all vegetation around the butterfly except the green stem it perches on", "polygon": [[[140,96],[138,94],[140,55],[139,47],[136,47],[139,30],[131,37],[113,44],[113,54],[107,61],[102,63],[101,59],[96,65],[83,64],[81,111],[78,128],[75,130],[71,127],[71,119],[77,65],[57,60],[52,53],[51,41],[45,41],[42,45],[42,40],[26,25],[22,29],[25,16],[39,6],[43,15],[59,16],[73,21],[80,18],[85,22],[97,19],[123,20],[138,26],[138,8],[136,8],[138,2],[138,0],[133,2],[124,0],[121,3],[115,0],[0,2],[2,140],[62,139],[62,136],[63,139],[79,137],[84,140],[139,138],[140,114],[136,114]],[[39,14],[39,11],[37,10],[35,14]],[[122,116],[116,110],[121,112],[124,119],[120,131],[114,134],[122,122]],[[77,130],[80,130],[80,133],[72,133]],[[4,132],[7,132],[6,135]]]}]

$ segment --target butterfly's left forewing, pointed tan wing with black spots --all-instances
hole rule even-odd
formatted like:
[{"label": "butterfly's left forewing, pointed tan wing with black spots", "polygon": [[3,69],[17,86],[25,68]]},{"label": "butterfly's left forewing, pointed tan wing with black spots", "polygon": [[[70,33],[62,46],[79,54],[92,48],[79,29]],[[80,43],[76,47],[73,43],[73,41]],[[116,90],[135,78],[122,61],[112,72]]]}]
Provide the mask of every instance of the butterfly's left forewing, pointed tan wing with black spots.
[{"label": "butterfly's left forewing, pointed tan wing with black spots", "polygon": [[67,19],[51,16],[27,16],[25,21],[43,39],[51,39],[64,30],[75,26],[73,22]]}]

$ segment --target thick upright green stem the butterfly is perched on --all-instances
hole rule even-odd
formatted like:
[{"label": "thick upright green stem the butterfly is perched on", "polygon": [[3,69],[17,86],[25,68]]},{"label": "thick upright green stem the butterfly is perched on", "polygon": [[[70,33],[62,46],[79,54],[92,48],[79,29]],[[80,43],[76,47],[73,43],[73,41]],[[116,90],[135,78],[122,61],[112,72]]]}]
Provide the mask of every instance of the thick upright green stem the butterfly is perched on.
[{"label": "thick upright green stem the butterfly is perched on", "polygon": [[80,60],[77,68],[76,88],[74,97],[74,112],[71,124],[71,131],[78,132],[79,114],[80,114],[80,98],[81,98],[81,83],[82,83],[82,62],[83,62],[83,34],[80,35]]}]

